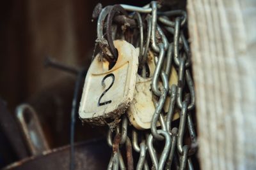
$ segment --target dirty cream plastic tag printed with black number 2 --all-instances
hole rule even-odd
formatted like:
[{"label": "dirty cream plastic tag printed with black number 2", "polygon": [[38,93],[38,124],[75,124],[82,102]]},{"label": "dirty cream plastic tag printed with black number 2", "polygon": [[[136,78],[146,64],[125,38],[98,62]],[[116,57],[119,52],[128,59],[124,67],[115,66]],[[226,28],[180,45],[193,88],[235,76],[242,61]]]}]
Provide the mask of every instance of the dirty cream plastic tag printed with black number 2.
[{"label": "dirty cream plastic tag printed with black number 2", "polygon": [[120,121],[134,96],[138,71],[138,52],[125,40],[115,40],[118,51],[115,66],[97,54],[88,69],[79,106],[79,117],[95,125]]}]

